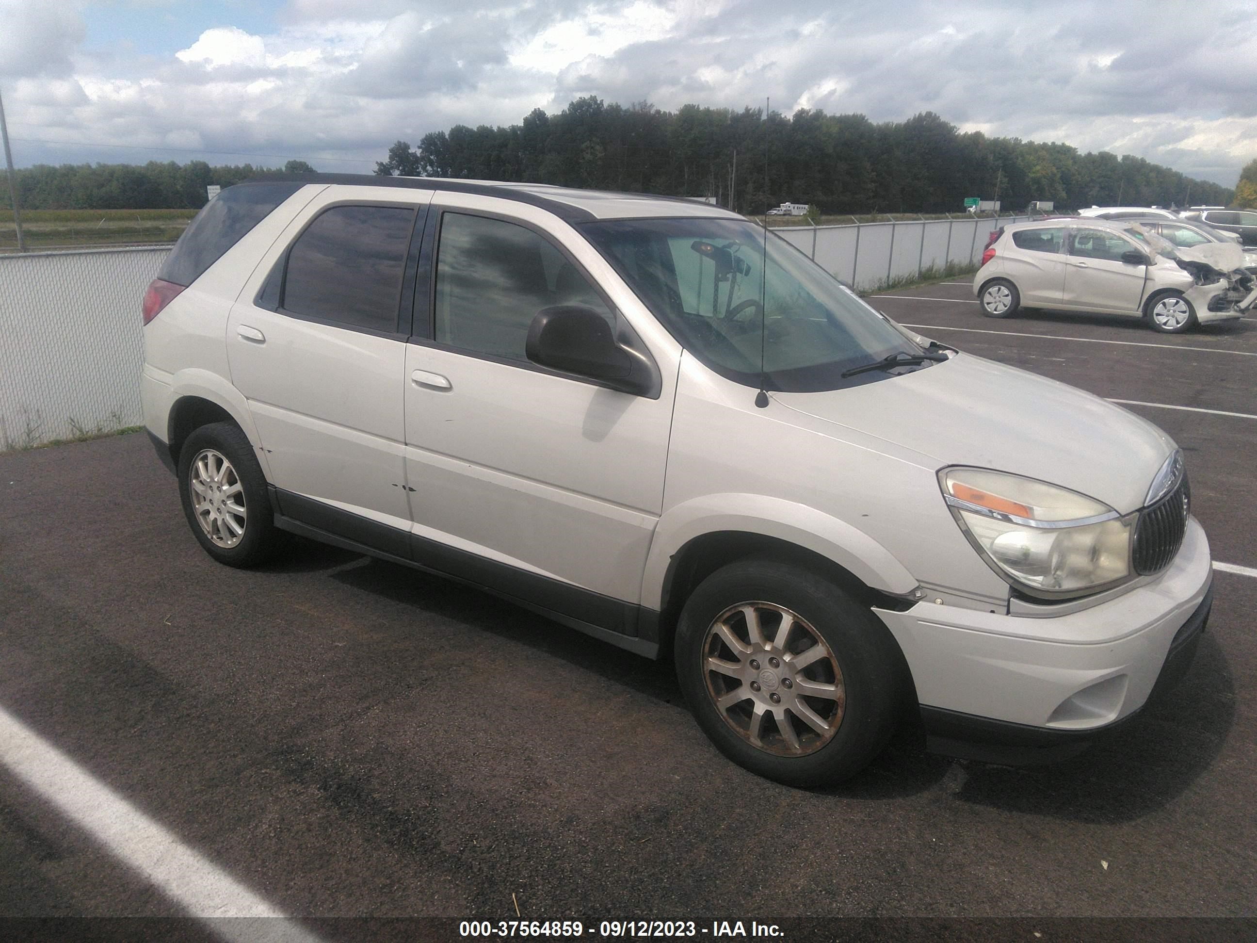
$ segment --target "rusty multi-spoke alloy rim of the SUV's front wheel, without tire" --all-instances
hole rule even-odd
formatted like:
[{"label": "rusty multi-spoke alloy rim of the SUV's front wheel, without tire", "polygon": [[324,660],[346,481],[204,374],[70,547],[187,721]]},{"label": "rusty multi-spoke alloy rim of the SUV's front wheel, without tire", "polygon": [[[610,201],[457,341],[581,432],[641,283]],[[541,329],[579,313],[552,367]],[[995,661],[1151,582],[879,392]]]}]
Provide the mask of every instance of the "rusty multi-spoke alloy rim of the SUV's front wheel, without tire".
[{"label": "rusty multi-spoke alloy rim of the SUV's front wheel, without tire", "polygon": [[825,639],[772,602],[722,612],[703,642],[708,697],[744,741],[782,757],[815,753],[846,709],[842,670]]}]

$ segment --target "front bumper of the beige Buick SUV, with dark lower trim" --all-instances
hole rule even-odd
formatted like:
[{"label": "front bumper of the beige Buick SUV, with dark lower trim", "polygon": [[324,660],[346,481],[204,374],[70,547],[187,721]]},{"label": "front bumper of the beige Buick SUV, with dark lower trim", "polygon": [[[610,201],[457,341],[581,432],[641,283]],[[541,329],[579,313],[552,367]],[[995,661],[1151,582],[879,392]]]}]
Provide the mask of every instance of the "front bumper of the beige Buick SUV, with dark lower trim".
[{"label": "front bumper of the beige Buick SUV, with dark lower trim", "polygon": [[1040,753],[1124,720],[1159,676],[1172,680],[1208,619],[1210,581],[1193,518],[1160,577],[1091,609],[1028,617],[921,602],[875,612],[904,651],[929,736]]}]

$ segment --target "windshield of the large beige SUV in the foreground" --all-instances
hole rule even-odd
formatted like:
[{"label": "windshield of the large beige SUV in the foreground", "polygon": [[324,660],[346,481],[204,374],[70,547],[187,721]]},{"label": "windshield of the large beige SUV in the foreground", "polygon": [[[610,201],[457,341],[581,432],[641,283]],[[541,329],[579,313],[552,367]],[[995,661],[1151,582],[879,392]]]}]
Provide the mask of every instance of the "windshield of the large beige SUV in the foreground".
[{"label": "windshield of the large beige SUV in the foreground", "polygon": [[747,386],[759,386],[760,356],[766,389],[817,392],[887,376],[842,377],[851,367],[921,353],[776,234],[766,288],[764,230],[744,220],[606,220],[581,229],[685,350]]}]

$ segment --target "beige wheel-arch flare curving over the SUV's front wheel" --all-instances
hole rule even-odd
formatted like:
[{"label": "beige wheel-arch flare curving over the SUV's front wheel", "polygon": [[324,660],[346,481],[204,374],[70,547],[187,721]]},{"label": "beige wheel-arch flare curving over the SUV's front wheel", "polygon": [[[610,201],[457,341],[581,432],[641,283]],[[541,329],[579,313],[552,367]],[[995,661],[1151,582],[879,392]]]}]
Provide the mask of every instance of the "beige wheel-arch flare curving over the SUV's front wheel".
[{"label": "beige wheel-arch flare curving over the SUV's front wheel", "polygon": [[695,537],[718,531],[757,533],[804,547],[882,592],[908,593],[918,586],[890,551],[816,508],[763,494],[708,494],[669,508],[659,519],[642,575],[642,605],[661,609],[672,557]]}]

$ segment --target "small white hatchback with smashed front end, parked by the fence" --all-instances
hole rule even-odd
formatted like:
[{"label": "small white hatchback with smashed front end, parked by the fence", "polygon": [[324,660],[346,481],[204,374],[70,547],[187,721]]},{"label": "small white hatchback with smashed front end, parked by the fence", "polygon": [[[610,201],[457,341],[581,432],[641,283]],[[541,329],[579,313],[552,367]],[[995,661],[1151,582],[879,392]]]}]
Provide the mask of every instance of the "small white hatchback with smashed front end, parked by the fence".
[{"label": "small white hatchback with smashed front end, parked by the fence", "polygon": [[1257,302],[1257,279],[1234,243],[1178,248],[1138,223],[1053,219],[997,230],[973,277],[982,313],[1018,308],[1143,317],[1182,333],[1233,321]]}]

